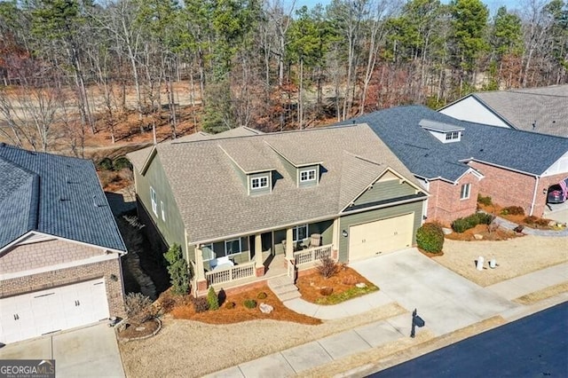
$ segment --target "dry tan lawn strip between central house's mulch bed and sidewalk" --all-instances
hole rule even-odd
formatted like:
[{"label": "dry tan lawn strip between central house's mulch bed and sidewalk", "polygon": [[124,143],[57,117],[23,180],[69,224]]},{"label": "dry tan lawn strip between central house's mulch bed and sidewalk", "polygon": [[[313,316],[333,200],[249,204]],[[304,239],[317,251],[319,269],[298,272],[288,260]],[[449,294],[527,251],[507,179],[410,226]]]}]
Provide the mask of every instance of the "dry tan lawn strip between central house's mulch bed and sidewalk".
[{"label": "dry tan lawn strip between central house's mulch bed and sidewalk", "polygon": [[390,303],[319,326],[276,320],[216,326],[167,317],[158,335],[119,348],[128,377],[198,377],[404,312]]}]

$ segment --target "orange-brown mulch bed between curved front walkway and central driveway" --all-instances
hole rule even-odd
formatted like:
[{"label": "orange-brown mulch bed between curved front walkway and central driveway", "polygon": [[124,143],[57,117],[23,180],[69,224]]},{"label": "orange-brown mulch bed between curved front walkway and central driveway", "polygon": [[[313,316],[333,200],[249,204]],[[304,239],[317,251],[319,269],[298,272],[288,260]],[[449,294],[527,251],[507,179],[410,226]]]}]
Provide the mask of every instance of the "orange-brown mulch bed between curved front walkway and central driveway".
[{"label": "orange-brown mulch bed between curved front walkway and central driveway", "polygon": [[322,287],[333,287],[333,294],[340,295],[346,290],[355,287],[355,284],[359,282],[367,284],[367,287],[375,286],[349,267],[340,269],[339,272],[328,279],[322,277],[319,272],[306,274],[298,278],[296,286],[300,290],[304,301],[318,303],[319,299],[324,298],[324,295],[321,295]]}]

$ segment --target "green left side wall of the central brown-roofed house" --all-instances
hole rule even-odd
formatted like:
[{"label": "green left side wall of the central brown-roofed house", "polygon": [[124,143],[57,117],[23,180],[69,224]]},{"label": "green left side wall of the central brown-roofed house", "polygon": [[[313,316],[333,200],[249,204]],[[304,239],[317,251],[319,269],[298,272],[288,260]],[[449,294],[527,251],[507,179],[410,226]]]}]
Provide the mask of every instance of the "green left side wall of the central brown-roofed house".
[{"label": "green left side wall of the central brown-roofed house", "polygon": [[[173,193],[171,192],[170,184],[162,167],[160,156],[155,156],[154,160],[146,170],[144,176],[140,175],[138,171],[136,175],[136,185],[138,199],[142,201],[144,207],[148,211],[148,215],[152,220],[158,231],[162,234],[163,239],[168,245],[177,243],[182,246],[184,256],[187,255],[187,246],[185,246],[185,228],[181,219],[181,215],[177,210],[177,203],[174,200]],[[152,201],[150,200],[150,186],[154,188],[156,193],[156,201],[158,202],[158,215],[154,214],[152,210]],[[165,221],[162,220],[162,204],[164,206]]]}]

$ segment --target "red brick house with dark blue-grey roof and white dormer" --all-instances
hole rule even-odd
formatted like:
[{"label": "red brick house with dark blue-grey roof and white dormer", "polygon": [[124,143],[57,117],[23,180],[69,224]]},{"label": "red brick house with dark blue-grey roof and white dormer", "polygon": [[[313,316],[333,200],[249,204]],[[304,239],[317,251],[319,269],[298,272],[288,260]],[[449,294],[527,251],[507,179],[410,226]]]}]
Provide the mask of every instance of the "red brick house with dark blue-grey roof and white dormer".
[{"label": "red brick house with dark blue-grey roof and white dormer", "polygon": [[568,177],[568,138],[463,122],[424,106],[366,114],[367,123],[430,192],[426,217],[449,224],[477,193],[541,217],[548,187]]}]

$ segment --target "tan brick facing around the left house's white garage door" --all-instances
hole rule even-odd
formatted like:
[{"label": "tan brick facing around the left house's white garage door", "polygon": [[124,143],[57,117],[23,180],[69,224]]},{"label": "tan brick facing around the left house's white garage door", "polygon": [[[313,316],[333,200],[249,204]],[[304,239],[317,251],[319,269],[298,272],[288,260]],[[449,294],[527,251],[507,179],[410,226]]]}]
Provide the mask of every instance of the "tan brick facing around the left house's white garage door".
[{"label": "tan brick facing around the left house's white garage door", "polygon": [[[112,280],[111,274],[114,274],[118,280]],[[110,314],[123,318],[125,315],[124,291],[120,258],[2,280],[0,281],[0,298],[103,277],[106,283],[106,298]]]}]

